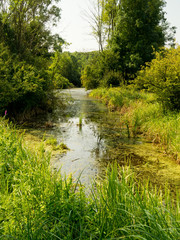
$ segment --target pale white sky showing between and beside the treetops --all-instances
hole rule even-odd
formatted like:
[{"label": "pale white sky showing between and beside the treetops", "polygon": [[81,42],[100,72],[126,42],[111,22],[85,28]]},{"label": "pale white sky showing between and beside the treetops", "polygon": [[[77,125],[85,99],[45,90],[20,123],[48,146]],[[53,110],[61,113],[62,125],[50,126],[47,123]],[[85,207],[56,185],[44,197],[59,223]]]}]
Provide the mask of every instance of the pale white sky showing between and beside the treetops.
[{"label": "pale white sky showing between and beside the treetops", "polygon": [[[89,23],[84,18],[84,12],[88,11],[90,0],[61,0],[61,21],[56,28],[70,46],[64,50],[93,51],[98,50],[98,44],[91,35]],[[180,44],[180,0],[166,0],[166,18],[170,26],[175,26],[176,42]]]}]

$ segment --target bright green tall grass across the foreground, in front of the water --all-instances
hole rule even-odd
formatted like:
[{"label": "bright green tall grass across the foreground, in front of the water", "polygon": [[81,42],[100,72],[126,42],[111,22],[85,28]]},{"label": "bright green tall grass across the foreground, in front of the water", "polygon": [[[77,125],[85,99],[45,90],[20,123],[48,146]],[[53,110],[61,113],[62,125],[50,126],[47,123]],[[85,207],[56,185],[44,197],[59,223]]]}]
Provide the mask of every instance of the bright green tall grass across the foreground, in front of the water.
[{"label": "bright green tall grass across the foreground, in front of the water", "polygon": [[50,155],[31,153],[23,136],[0,120],[0,239],[180,239],[174,200],[116,165],[91,194],[50,168]]}]

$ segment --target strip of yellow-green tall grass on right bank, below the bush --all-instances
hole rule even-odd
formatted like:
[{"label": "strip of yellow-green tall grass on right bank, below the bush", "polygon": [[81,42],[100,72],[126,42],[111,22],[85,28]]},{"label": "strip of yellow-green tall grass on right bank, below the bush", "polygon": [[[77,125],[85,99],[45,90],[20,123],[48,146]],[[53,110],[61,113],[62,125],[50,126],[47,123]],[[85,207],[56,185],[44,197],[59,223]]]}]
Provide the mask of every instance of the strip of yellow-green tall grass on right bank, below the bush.
[{"label": "strip of yellow-green tall grass on right bank, below the bush", "polygon": [[164,112],[155,95],[132,88],[96,89],[91,95],[120,111],[128,137],[143,133],[180,162],[180,113]]}]

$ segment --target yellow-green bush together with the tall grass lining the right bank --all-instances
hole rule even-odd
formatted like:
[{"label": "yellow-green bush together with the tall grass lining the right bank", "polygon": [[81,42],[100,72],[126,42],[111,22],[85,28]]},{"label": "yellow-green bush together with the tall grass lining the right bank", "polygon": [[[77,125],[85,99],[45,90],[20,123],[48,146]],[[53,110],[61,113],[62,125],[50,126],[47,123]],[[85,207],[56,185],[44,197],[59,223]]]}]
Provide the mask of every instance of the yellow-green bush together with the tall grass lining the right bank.
[{"label": "yellow-green bush together with the tall grass lining the right bank", "polygon": [[128,86],[100,88],[91,96],[121,113],[128,137],[145,134],[180,162],[180,47],[162,49]]}]

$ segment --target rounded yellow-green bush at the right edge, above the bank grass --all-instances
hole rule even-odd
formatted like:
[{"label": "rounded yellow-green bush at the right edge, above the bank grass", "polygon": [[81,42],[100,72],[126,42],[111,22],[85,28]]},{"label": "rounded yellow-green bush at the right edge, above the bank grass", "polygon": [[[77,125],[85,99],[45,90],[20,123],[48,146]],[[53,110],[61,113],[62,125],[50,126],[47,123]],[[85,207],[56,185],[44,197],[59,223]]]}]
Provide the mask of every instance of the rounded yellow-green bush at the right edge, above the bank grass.
[{"label": "rounded yellow-green bush at the right edge, above the bank grass", "polygon": [[135,83],[157,94],[165,109],[180,109],[180,47],[156,53],[156,59],[143,68]]}]

